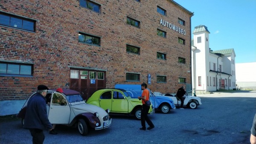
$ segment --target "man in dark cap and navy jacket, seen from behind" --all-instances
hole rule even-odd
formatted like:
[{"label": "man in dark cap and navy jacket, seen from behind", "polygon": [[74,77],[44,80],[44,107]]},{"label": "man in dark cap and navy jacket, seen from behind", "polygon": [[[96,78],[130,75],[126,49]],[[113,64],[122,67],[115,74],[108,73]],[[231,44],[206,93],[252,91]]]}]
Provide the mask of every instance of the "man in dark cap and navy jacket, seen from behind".
[{"label": "man in dark cap and navy jacket, seen from behind", "polygon": [[32,96],[27,104],[24,128],[29,129],[32,135],[33,144],[43,144],[43,130],[52,130],[52,124],[49,122],[46,110],[46,98],[48,87],[39,85],[37,93]]}]

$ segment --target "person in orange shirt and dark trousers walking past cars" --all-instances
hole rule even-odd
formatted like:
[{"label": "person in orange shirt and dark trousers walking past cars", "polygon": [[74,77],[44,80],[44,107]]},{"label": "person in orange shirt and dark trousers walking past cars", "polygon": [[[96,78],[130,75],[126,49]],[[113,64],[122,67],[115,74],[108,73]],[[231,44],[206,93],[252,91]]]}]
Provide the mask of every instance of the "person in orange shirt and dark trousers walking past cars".
[{"label": "person in orange shirt and dark trousers walking past cars", "polygon": [[154,124],[148,118],[148,110],[150,109],[150,106],[147,106],[145,104],[145,101],[149,101],[149,91],[147,89],[147,84],[145,84],[145,83],[141,84],[141,89],[143,90],[143,93],[142,93],[141,97],[140,96],[138,97],[140,100],[142,100],[142,109],[141,109],[141,116],[140,116],[142,127],[140,128],[140,130],[146,130],[145,121],[149,125],[149,127],[147,129],[151,130],[154,128]]}]

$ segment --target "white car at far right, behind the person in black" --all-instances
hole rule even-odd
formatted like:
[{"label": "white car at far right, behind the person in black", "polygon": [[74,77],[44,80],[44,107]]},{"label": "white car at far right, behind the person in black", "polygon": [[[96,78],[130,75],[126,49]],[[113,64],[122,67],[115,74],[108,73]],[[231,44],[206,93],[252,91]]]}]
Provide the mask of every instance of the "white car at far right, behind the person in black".
[{"label": "white car at far right, behind the person in black", "polygon": [[[159,96],[163,96],[163,95],[159,95]],[[179,98],[171,94],[166,94],[165,96],[167,96],[168,98],[172,98],[172,101],[174,102],[174,104],[176,106],[180,106],[181,104],[181,101]],[[191,95],[188,95],[188,94],[185,94],[183,96],[184,99],[184,104],[183,105],[186,105],[187,107],[190,107],[191,109],[196,109],[201,103],[201,98],[198,98],[196,96],[191,96]]]}]

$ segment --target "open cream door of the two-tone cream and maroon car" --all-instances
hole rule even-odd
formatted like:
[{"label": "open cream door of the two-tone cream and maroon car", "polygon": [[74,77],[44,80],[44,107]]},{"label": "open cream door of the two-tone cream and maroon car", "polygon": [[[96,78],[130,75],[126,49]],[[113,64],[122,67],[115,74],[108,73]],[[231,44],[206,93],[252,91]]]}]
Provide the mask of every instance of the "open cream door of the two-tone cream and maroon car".
[{"label": "open cream door of the two-tone cream and maroon car", "polygon": [[69,124],[70,107],[63,94],[52,92],[48,118],[52,124]]}]

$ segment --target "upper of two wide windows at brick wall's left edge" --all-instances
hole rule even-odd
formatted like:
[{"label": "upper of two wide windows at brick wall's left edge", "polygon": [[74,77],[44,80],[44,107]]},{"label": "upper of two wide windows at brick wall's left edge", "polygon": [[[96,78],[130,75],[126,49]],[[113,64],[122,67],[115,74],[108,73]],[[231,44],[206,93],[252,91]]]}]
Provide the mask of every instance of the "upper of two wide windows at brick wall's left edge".
[{"label": "upper of two wide windows at brick wall's left edge", "polygon": [[0,12],[0,25],[10,26],[17,29],[24,29],[35,32],[35,20],[29,20],[23,17],[18,17]]}]

